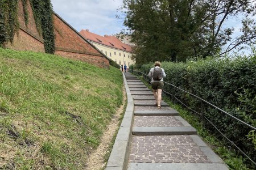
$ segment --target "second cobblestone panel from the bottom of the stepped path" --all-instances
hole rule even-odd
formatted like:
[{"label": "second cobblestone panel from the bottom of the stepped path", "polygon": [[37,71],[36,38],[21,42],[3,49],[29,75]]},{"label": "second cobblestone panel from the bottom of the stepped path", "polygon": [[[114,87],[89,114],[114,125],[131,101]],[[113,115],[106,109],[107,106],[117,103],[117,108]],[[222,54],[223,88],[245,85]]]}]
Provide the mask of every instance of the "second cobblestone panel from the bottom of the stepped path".
[{"label": "second cobblestone panel from the bottom of the stepped path", "polygon": [[177,127],[184,126],[174,116],[134,116],[134,127]]}]

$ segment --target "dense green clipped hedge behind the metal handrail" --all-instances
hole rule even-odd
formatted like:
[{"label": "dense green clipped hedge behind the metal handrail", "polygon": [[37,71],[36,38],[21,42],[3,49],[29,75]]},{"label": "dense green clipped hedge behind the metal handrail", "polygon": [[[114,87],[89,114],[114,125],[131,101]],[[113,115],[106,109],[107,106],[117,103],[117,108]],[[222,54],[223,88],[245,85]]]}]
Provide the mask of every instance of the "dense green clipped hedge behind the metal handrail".
[{"label": "dense green clipped hedge behind the metal handrail", "polygon": [[[147,74],[153,63],[140,69]],[[167,74],[165,82],[195,94],[218,108],[256,126],[256,53],[250,57],[208,58],[186,63],[163,62]],[[164,90],[175,94],[183,103],[201,113],[201,103],[195,97],[165,84]],[[247,126],[225,113],[204,104],[204,114],[218,129],[255,161],[255,134]],[[206,128],[221,137],[212,125]],[[250,132],[250,136],[247,135]],[[227,142],[230,146],[230,143]]]}]

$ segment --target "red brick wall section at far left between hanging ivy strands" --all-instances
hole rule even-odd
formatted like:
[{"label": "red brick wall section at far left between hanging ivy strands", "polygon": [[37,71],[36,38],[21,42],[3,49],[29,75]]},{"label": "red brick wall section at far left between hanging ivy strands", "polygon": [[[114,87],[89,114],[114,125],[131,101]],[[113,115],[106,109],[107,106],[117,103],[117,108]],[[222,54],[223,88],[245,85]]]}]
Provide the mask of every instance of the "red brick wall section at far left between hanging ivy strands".
[{"label": "red brick wall section at far left between hanging ivy strands", "polygon": [[44,44],[42,36],[39,35],[36,29],[35,19],[30,6],[29,0],[27,0],[28,10],[28,24],[26,26],[24,21],[24,12],[22,1],[18,2],[18,20],[19,20],[19,32],[15,33],[13,44],[10,42],[6,44],[7,48],[15,50],[31,50],[34,52],[44,52]]}]

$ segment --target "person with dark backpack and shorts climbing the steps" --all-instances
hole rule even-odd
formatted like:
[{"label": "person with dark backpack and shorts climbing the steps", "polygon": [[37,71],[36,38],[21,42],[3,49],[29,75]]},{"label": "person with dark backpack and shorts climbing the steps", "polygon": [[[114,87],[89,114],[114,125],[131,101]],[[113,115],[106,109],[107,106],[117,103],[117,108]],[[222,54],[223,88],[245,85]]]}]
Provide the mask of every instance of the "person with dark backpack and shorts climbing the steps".
[{"label": "person with dark backpack and shorts climbing the steps", "polygon": [[166,78],[166,73],[164,69],[160,68],[161,63],[159,61],[155,62],[155,67],[150,69],[148,77],[151,78],[151,87],[153,89],[155,104],[158,106],[158,109],[161,108],[162,100],[162,90],[163,90],[163,78]]}]

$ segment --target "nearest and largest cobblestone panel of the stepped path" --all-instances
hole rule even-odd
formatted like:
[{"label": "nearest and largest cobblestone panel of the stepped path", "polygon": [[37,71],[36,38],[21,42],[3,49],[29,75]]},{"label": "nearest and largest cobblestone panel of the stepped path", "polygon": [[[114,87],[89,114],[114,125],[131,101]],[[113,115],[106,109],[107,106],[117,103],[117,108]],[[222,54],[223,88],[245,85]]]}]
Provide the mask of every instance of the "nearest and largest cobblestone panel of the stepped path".
[{"label": "nearest and largest cobblestone panel of the stepped path", "polygon": [[211,163],[189,135],[136,136],[130,163]]}]

